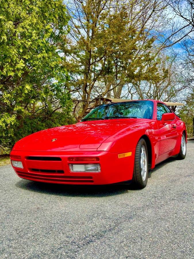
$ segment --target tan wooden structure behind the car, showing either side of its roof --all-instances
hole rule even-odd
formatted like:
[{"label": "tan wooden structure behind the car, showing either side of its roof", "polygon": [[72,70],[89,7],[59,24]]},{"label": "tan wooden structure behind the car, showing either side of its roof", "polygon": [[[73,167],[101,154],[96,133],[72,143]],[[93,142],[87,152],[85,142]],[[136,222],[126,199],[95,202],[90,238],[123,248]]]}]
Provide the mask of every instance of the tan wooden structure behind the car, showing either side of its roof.
[{"label": "tan wooden structure behind the car, showing either side of its roof", "polygon": [[[101,104],[107,104],[107,103],[113,103],[113,102],[128,102],[128,101],[135,101],[135,100],[99,97],[95,99],[95,107]],[[176,110],[176,106],[185,105],[184,103],[181,103],[181,102],[164,102],[164,103],[168,105],[174,112]]]}]

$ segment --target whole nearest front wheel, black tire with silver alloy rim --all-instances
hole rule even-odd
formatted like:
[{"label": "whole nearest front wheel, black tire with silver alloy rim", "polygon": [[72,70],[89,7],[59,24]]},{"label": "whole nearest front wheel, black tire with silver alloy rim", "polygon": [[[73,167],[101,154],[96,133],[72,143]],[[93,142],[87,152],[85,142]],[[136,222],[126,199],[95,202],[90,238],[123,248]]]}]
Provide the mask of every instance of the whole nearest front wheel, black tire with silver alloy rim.
[{"label": "whole nearest front wheel, black tire with silver alloy rim", "polygon": [[144,188],[148,178],[148,153],[144,138],[137,143],[132,182],[137,188]]}]

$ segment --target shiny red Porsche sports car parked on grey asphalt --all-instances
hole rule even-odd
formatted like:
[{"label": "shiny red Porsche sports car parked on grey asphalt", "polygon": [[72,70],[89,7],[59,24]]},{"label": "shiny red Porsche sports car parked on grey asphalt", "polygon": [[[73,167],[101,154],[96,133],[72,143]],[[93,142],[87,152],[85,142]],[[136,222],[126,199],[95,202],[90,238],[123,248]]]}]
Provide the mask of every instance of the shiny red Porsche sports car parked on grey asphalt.
[{"label": "shiny red Porsche sports car parked on grey asphalt", "polygon": [[166,104],[137,100],[103,104],[80,122],[22,138],[10,159],[24,179],[60,184],[147,184],[148,170],[184,159],[185,123]]}]

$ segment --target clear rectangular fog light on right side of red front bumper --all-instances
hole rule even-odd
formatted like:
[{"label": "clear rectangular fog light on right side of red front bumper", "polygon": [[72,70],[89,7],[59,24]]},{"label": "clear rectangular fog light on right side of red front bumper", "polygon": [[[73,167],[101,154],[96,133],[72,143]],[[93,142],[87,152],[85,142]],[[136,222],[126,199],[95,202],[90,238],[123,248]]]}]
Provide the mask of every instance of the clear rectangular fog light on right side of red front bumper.
[{"label": "clear rectangular fog light on right side of red front bumper", "polygon": [[69,164],[71,172],[100,172],[100,164]]}]

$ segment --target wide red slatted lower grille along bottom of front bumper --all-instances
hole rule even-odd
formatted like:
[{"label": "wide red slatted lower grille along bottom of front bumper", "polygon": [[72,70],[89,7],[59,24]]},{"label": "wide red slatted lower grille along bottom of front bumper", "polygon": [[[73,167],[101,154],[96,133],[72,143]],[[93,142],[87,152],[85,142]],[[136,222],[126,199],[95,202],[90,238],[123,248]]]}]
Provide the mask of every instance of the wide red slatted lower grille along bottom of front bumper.
[{"label": "wide red slatted lower grille along bottom of front bumper", "polygon": [[92,176],[65,176],[60,174],[26,173],[17,171],[18,176],[28,180],[58,183],[92,183]]}]

